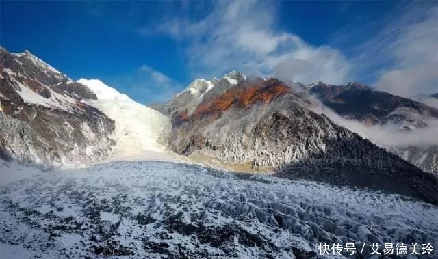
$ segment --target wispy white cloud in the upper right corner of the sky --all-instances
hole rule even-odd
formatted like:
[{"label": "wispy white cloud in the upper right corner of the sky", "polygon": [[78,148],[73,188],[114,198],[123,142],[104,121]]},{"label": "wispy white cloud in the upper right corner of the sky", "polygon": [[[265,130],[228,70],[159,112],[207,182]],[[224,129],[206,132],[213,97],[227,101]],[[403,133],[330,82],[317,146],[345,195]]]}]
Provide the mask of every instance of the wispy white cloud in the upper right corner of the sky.
[{"label": "wispy white cloud in the upper right corner of the sky", "polygon": [[438,92],[438,7],[409,3],[359,47],[352,63],[371,70],[377,89],[405,97]]}]

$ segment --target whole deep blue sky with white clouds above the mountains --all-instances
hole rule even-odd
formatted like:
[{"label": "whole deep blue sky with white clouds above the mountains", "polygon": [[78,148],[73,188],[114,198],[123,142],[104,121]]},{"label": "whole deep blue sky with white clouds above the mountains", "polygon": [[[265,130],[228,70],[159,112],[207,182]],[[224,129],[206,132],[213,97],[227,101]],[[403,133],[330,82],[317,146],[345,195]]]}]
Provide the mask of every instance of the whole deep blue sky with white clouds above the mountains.
[{"label": "whole deep blue sky with white clouds above the mountains", "polygon": [[438,2],[1,1],[0,44],[141,103],[229,70],[438,92]]}]

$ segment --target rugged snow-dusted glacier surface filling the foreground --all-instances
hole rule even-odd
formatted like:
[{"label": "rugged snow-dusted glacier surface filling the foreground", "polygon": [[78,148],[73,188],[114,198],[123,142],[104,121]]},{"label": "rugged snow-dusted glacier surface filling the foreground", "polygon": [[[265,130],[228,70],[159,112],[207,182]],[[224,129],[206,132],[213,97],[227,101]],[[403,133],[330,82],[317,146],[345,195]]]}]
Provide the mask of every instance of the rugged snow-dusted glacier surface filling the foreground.
[{"label": "rugged snow-dusted glacier surface filling the foreground", "polygon": [[117,162],[0,186],[0,252],[2,259],[317,258],[319,242],[438,247],[437,218],[436,206],[377,191]]}]

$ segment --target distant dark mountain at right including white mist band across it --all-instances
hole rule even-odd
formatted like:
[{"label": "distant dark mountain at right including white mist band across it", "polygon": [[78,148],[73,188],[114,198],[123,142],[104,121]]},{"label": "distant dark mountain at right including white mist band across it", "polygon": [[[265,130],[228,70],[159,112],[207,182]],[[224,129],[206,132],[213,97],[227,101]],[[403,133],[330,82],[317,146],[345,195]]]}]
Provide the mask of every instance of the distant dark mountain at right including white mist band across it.
[{"label": "distant dark mountain at right including white mist band across it", "polygon": [[428,172],[438,172],[438,109],[359,83],[319,82],[310,91],[322,102],[313,106],[315,111]]}]

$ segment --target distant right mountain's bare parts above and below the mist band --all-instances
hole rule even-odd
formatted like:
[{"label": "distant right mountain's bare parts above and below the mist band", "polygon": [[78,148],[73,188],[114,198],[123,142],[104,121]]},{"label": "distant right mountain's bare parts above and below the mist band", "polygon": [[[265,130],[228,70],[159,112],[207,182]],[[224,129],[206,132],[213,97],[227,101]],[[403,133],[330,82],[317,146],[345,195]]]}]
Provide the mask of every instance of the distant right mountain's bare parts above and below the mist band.
[{"label": "distant right mountain's bare parts above and below the mist band", "polygon": [[[423,103],[402,98],[387,92],[375,91],[359,83],[348,85],[327,85],[322,82],[311,87],[324,105],[339,115],[359,120],[367,126],[394,126],[400,131],[426,128],[428,121],[438,119],[438,109]],[[388,150],[428,172],[438,173],[438,146],[388,146]]]}]

